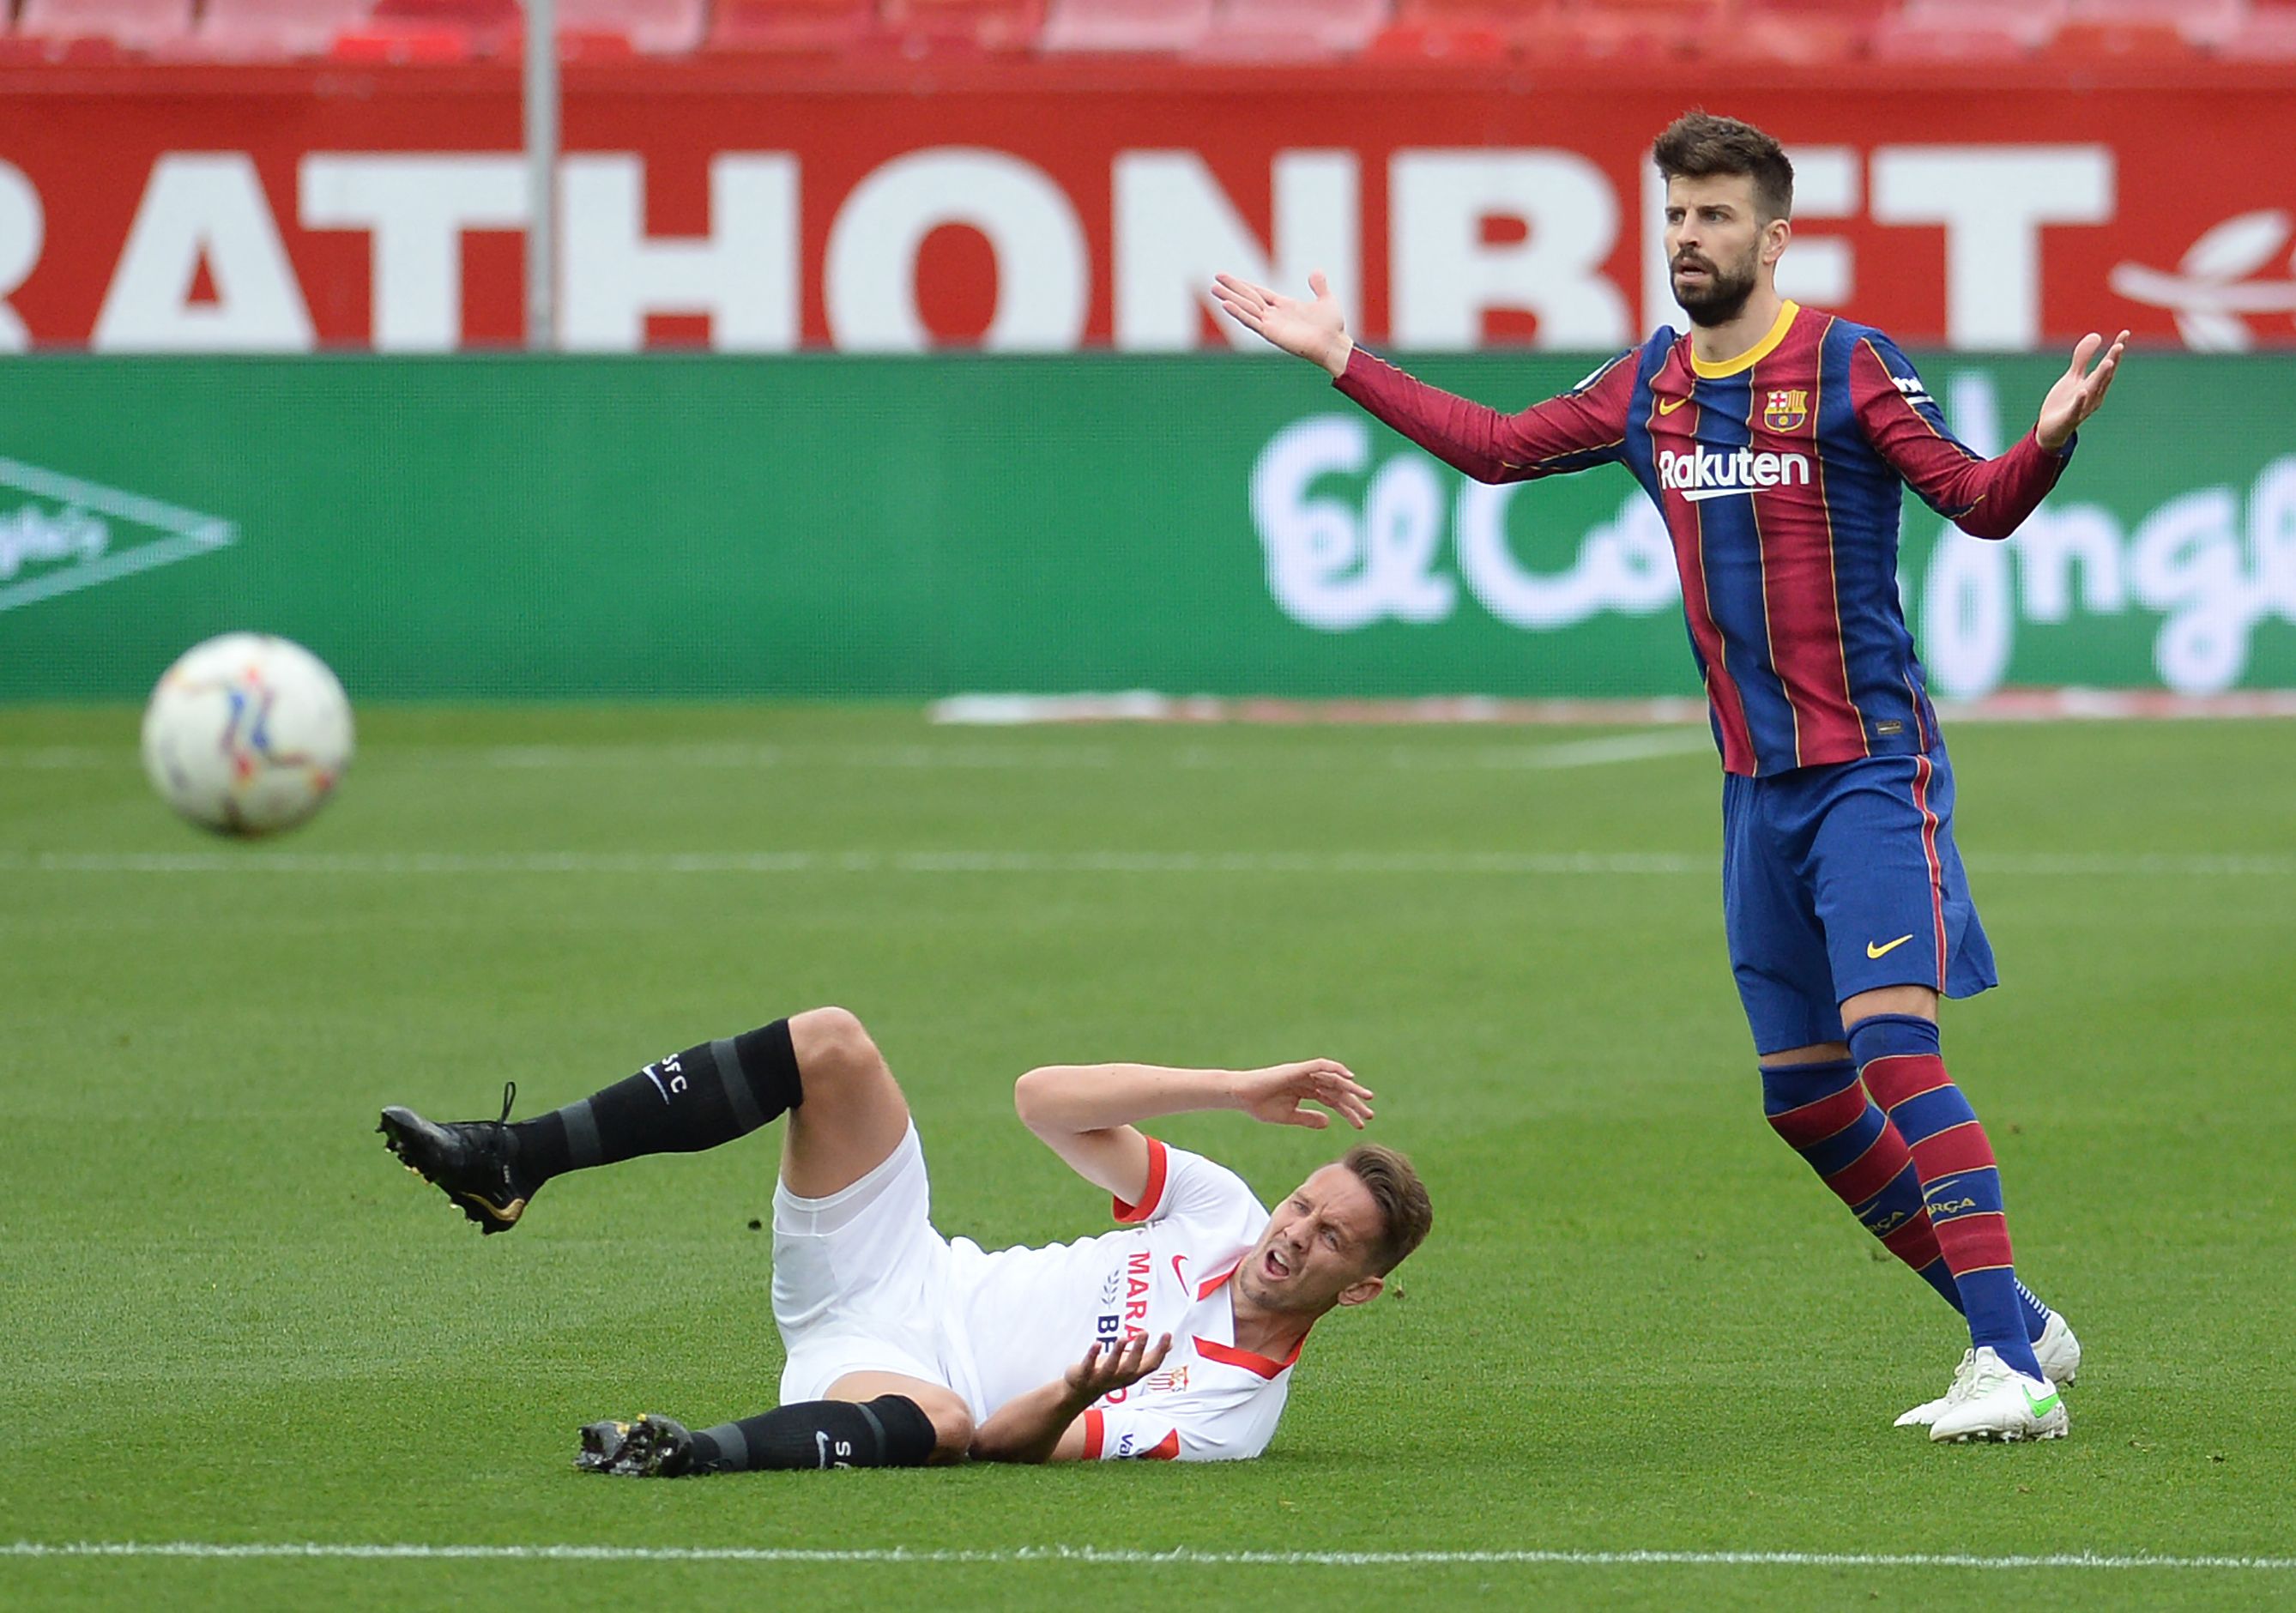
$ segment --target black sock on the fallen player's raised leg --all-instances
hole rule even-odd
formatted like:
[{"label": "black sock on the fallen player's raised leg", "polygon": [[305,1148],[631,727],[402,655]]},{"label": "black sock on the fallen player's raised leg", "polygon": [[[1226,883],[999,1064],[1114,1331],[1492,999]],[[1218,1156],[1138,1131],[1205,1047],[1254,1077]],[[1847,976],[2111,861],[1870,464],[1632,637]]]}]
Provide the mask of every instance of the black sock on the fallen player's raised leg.
[{"label": "black sock on the fallen player's raised leg", "polygon": [[638,1154],[698,1154],[804,1101],[790,1021],[776,1019],[689,1046],[579,1104],[512,1124],[519,1143],[512,1170],[530,1193],[567,1170]]}]

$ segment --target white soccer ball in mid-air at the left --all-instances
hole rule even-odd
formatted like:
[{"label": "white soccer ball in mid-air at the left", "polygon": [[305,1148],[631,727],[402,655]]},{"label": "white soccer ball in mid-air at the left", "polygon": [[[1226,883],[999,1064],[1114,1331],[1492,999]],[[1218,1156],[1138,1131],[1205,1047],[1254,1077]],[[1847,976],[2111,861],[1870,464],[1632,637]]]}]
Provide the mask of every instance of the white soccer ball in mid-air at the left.
[{"label": "white soccer ball in mid-air at the left", "polygon": [[351,764],[351,702],[303,645],[225,633],[168,668],[145,709],[145,773],[218,835],[294,828]]}]

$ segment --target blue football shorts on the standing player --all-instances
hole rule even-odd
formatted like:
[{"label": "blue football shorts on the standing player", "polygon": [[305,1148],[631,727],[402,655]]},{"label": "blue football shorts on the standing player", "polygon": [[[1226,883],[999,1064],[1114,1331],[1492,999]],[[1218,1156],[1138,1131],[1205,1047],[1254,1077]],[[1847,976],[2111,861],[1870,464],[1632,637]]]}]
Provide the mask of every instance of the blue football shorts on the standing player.
[{"label": "blue football shorts on the standing player", "polygon": [[1841,1042],[1876,987],[2000,984],[1945,750],[1722,778],[1722,920],[1759,1053]]}]

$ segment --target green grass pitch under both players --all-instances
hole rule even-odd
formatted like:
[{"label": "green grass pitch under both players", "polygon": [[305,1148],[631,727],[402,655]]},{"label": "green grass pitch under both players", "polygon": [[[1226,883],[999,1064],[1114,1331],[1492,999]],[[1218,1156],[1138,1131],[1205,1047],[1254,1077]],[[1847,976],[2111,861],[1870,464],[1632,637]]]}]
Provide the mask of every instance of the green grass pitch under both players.
[{"label": "green grass pitch under both players", "polygon": [[[2037,1448],[1890,1427],[1963,1335],[1761,1124],[1699,734],[367,711],[342,798],[241,847],[161,812],[133,725],[0,711],[11,1604],[2296,1597],[2291,725],[1954,734],[2007,984],[1947,1058],[2089,1347]],[[1258,1464],[579,1478],[581,1420],[771,1402],[771,1140],[563,1179],[482,1241],[374,1111],[491,1115],[514,1078],[533,1113],[829,1000],[907,1085],[944,1230],[1104,1225],[1013,1122],[1033,1062],[1329,1053],[1435,1237],[1318,1328]],[[1164,1131],[1263,1193],[1336,1140]],[[1015,1556],[1086,1546],[1318,1560]]]}]

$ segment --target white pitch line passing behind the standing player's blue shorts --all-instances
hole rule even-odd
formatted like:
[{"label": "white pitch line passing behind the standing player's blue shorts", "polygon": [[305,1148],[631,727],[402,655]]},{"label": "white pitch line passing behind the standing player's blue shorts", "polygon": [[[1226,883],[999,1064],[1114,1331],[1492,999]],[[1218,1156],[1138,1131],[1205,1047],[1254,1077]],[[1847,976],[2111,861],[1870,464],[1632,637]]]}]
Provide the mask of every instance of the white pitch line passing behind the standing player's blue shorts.
[{"label": "white pitch line passing behind the standing player's blue shorts", "polygon": [[[2241,851],[1970,856],[2032,879],[2285,879],[2296,856]],[[1706,851],[0,851],[7,874],[1424,874],[1715,876]]]}]

